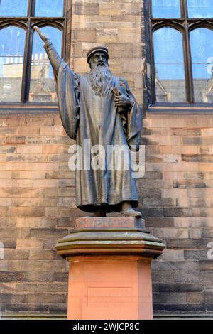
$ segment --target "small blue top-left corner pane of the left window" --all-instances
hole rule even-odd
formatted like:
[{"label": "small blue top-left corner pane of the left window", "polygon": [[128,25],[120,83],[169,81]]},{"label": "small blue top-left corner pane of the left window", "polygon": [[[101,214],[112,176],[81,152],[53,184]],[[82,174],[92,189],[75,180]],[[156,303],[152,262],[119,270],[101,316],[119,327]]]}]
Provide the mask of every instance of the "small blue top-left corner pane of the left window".
[{"label": "small blue top-left corner pane of the left window", "polygon": [[0,16],[26,16],[28,0],[1,0]]}]

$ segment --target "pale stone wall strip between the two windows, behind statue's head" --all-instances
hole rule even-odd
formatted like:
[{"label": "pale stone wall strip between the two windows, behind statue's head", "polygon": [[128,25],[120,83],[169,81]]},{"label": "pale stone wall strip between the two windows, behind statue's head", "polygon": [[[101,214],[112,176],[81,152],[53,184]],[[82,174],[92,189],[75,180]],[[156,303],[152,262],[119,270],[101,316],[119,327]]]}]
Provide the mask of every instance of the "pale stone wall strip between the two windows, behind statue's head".
[{"label": "pale stone wall strip between the two windows, behind statue's head", "polygon": [[87,51],[96,45],[109,48],[114,75],[125,77],[142,103],[141,0],[74,0],[72,8],[71,66],[88,71]]}]

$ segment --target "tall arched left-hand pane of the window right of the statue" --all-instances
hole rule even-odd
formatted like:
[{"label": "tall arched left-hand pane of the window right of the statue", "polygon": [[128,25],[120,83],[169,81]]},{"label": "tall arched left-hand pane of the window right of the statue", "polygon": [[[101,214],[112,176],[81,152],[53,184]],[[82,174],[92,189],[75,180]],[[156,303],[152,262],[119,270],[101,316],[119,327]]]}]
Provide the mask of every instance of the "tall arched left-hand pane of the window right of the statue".
[{"label": "tall arched left-hand pane of the window right of the statue", "polygon": [[186,102],[182,34],[173,28],[154,33],[157,102]]}]

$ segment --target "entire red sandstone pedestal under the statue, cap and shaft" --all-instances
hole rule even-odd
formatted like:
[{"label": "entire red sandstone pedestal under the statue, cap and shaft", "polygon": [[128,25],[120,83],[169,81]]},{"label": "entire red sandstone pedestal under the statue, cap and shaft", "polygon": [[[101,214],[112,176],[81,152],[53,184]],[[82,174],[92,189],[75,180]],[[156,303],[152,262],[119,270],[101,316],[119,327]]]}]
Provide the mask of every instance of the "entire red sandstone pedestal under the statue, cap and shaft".
[{"label": "entire red sandstone pedestal under the statue, cap and shaft", "polygon": [[70,262],[69,320],[151,320],[151,261],[165,248],[134,217],[87,217],[56,245]]}]

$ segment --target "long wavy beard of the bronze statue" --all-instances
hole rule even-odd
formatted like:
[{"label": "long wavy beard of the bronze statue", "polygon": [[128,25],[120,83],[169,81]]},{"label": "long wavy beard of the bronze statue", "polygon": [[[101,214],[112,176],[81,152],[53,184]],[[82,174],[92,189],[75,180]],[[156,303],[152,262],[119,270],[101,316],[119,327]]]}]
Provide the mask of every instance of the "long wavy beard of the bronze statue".
[{"label": "long wavy beard of the bronze statue", "polygon": [[97,65],[89,73],[89,80],[97,97],[109,97],[115,87],[115,77],[109,70],[109,65]]}]

